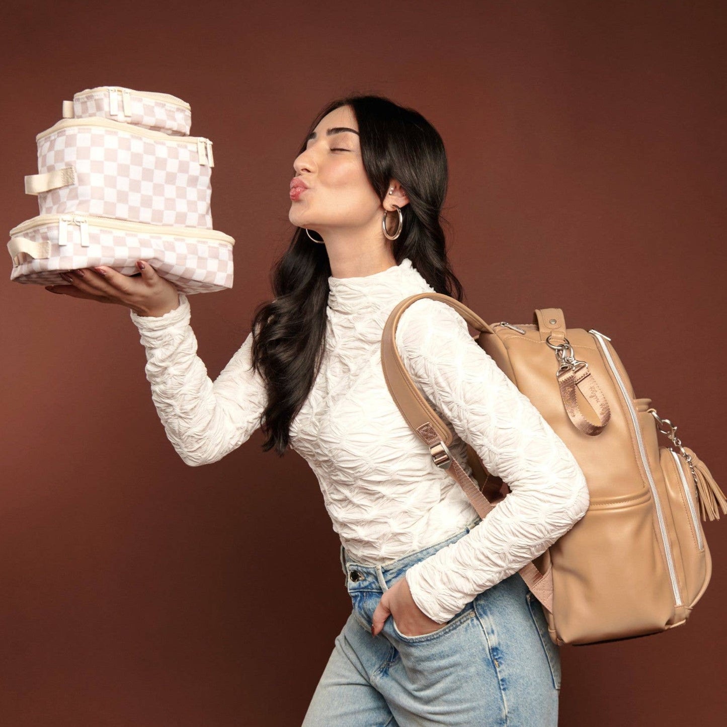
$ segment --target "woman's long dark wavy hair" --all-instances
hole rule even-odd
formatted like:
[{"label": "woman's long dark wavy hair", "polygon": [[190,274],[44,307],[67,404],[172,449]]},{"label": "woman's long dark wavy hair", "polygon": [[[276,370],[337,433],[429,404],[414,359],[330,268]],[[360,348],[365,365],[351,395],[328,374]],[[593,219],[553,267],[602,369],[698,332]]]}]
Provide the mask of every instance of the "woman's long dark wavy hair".
[{"label": "woman's long dark wavy hair", "polygon": [[[462,301],[462,285],[447,260],[441,210],[448,170],[443,141],[420,113],[378,95],[349,95],[327,104],[310,124],[298,154],[321,119],[348,105],[358,122],[366,176],[384,200],[393,177],[409,196],[403,206],[403,230],[392,244],[397,265],[404,257],[435,292]],[[297,156],[297,155],[296,155]],[[328,278],[331,266],[324,244],[296,228],[286,252],[273,265],[270,279],[275,299],[261,303],[252,319],[252,365],[260,371],[268,403],[260,416],[267,436],[264,451],[282,456],[290,424],[313,382],[324,353]]]}]

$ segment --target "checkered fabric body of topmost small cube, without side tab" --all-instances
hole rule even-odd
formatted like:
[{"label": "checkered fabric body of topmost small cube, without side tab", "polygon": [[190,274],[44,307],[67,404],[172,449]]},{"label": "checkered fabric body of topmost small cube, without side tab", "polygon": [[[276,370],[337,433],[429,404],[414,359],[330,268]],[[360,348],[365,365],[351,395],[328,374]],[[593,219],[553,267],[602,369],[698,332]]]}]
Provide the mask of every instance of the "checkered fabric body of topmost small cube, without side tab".
[{"label": "checkered fabric body of topmost small cube, without side tab", "polygon": [[192,112],[174,103],[165,103],[129,89],[131,115],[124,113],[121,89],[94,89],[73,96],[73,116],[84,119],[88,116],[104,116],[113,121],[143,126],[145,129],[167,134],[189,134],[192,126]]}]

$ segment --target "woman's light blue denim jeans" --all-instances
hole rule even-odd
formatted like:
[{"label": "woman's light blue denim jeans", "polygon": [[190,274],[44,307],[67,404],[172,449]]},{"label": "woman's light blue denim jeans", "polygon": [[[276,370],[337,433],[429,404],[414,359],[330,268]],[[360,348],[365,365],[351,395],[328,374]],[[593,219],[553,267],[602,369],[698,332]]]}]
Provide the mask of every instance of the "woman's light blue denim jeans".
[{"label": "woman's light blue denim jeans", "polygon": [[515,573],[477,595],[441,628],[402,635],[389,616],[371,618],[407,569],[477,523],[385,566],[364,566],[341,547],[353,602],[302,727],[555,727],[561,688],[558,646],[539,601]]}]

